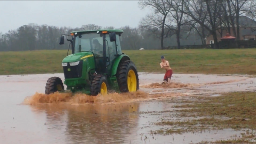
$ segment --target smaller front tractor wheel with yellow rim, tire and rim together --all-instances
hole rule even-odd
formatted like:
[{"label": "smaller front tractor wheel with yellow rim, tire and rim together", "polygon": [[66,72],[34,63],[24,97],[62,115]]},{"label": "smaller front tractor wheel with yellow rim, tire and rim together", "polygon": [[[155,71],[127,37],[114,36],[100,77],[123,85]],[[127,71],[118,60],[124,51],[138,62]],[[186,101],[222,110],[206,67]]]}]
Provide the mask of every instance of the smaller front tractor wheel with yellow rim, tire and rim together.
[{"label": "smaller front tractor wheel with yellow rim, tire and rim together", "polygon": [[108,82],[104,75],[96,75],[90,86],[90,94],[96,96],[98,94],[106,95],[108,94]]}]

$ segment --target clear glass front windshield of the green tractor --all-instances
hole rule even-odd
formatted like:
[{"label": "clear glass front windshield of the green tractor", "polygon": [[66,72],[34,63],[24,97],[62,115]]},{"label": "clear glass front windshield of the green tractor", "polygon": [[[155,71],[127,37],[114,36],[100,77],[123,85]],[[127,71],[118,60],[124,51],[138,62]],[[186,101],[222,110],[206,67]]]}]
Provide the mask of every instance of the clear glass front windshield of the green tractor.
[{"label": "clear glass front windshield of the green tractor", "polygon": [[96,57],[103,57],[103,37],[99,34],[83,34],[75,37],[75,52],[91,51]]}]

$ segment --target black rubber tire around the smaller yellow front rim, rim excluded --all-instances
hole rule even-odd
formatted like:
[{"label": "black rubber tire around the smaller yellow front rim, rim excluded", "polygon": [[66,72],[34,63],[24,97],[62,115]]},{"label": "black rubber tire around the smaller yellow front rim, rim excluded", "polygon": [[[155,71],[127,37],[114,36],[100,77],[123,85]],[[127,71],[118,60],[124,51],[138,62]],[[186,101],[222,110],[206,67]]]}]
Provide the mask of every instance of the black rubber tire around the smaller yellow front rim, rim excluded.
[{"label": "black rubber tire around the smaller yellow front rim, rim excluded", "polygon": [[106,77],[104,75],[96,75],[90,86],[90,95],[97,96],[101,92],[102,83],[106,84],[108,92],[108,82]]}]

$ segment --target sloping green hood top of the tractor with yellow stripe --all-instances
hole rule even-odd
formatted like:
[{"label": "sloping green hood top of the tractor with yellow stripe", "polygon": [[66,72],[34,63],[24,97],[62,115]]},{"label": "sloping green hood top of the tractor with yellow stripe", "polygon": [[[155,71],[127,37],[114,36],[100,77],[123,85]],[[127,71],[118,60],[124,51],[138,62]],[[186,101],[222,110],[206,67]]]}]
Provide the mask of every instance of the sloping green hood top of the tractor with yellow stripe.
[{"label": "sloping green hood top of the tractor with yellow stripe", "polygon": [[77,53],[68,55],[66,58],[62,60],[62,63],[76,62],[91,56],[93,56],[92,52],[77,52]]}]

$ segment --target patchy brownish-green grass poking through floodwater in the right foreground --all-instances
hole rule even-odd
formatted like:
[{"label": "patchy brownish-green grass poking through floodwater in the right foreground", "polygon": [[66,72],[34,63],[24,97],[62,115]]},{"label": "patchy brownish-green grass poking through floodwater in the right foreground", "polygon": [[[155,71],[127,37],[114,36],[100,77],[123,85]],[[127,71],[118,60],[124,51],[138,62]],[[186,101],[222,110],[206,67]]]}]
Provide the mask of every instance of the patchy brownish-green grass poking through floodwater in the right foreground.
[{"label": "patchy brownish-green grass poking through floodwater in the right foreground", "polygon": [[[173,99],[174,100],[174,99]],[[209,144],[250,143],[256,136],[256,92],[232,92],[218,97],[180,98],[170,101],[183,104],[173,106],[179,108],[174,112],[183,121],[160,121],[156,125],[171,126],[169,129],[155,131],[157,134],[173,134],[184,132],[202,132],[204,130],[250,130],[240,138],[209,142]],[[181,108],[181,109],[180,109]],[[189,119],[188,118],[193,118]],[[187,119],[187,120],[186,120]],[[208,144],[202,142],[201,144]]]}]

